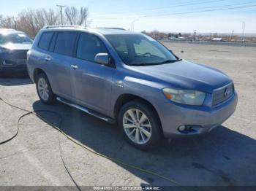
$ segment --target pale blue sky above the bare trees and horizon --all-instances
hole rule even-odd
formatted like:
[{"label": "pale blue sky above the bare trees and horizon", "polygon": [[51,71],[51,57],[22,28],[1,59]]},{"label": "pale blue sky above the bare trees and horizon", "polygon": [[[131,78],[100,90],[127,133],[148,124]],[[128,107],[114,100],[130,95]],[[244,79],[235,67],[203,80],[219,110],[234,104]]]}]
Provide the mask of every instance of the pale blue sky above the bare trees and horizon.
[{"label": "pale blue sky above the bare trees and horizon", "polygon": [[0,15],[56,4],[89,7],[90,27],[241,34],[244,22],[245,33],[256,34],[256,0],[1,0]]}]

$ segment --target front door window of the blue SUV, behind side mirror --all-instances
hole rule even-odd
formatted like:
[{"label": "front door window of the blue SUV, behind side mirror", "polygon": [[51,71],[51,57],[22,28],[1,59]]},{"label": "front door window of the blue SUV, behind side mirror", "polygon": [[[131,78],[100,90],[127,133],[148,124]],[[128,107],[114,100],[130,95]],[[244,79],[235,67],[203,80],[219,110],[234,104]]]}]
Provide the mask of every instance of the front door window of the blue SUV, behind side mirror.
[{"label": "front door window of the blue SUV, behind side mirror", "polygon": [[98,53],[108,53],[103,42],[91,34],[81,34],[78,41],[77,58],[94,62]]}]

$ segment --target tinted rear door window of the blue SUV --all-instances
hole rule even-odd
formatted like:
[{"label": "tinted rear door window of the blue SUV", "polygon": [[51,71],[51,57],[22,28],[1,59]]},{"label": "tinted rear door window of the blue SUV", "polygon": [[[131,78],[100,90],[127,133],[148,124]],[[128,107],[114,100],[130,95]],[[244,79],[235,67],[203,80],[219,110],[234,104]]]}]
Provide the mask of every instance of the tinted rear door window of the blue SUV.
[{"label": "tinted rear door window of the blue SUV", "polygon": [[61,55],[71,56],[75,44],[76,33],[74,32],[59,32],[54,52]]}]

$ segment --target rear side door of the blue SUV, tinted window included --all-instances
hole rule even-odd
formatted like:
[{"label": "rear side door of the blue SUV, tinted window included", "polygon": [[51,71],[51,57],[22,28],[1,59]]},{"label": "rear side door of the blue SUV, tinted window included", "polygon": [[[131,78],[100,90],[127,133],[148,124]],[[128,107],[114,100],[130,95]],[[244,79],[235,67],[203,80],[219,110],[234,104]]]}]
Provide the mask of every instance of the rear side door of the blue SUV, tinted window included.
[{"label": "rear side door of the blue SUV, tinted window included", "polygon": [[58,31],[54,34],[50,51],[45,58],[51,63],[51,85],[57,95],[72,99],[70,63],[77,38],[75,31]]}]

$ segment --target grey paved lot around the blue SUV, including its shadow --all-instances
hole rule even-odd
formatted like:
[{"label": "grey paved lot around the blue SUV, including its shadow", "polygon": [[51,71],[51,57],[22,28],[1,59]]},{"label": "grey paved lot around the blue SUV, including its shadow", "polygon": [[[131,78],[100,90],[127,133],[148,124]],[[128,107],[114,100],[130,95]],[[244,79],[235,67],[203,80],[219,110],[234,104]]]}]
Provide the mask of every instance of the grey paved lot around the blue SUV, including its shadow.
[{"label": "grey paved lot around the blue SUV, including its shadow", "polygon": [[[256,48],[166,44],[181,58],[217,67],[234,79],[237,111],[205,136],[162,141],[154,152],[130,147],[115,125],[64,104],[43,105],[29,79],[0,79],[0,97],[26,109],[50,109],[64,117],[63,130],[86,146],[125,163],[155,171],[181,185],[256,185]],[[0,103],[0,141],[15,132],[20,112]],[[45,115],[45,119],[58,119]],[[80,185],[173,185],[97,155],[60,137],[72,176]],[[73,185],[58,147],[58,132],[35,117],[17,138],[0,146],[0,185]]]}]

